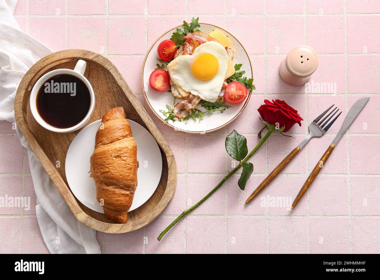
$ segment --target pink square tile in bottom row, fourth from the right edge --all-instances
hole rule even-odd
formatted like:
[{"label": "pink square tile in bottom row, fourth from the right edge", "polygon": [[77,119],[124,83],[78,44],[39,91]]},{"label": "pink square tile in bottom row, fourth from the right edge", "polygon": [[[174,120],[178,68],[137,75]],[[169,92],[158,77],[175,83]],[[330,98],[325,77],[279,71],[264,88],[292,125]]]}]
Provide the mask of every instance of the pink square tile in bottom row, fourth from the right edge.
[{"label": "pink square tile in bottom row, fourth from the right edge", "polygon": [[228,253],[265,254],[266,219],[228,218]]}]

